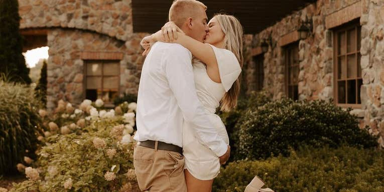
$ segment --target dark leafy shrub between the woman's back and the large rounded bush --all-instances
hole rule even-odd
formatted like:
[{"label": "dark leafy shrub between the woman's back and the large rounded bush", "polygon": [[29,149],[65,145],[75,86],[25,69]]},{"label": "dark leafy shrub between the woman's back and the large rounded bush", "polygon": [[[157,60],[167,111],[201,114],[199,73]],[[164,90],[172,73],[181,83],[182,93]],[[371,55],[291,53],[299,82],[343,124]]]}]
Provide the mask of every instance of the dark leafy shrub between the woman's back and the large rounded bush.
[{"label": "dark leafy shrub between the woman's back and the large rounded bush", "polygon": [[231,145],[231,156],[228,162],[237,159],[237,148],[234,143],[239,142],[239,136],[237,133],[240,128],[241,122],[243,121],[243,114],[245,114],[248,110],[263,106],[264,104],[271,101],[271,96],[266,91],[252,92],[247,97],[247,99],[239,98],[236,109],[233,109],[230,112],[218,113],[226,127],[229,136],[229,144]]}]

